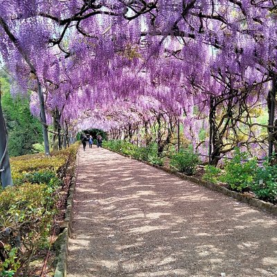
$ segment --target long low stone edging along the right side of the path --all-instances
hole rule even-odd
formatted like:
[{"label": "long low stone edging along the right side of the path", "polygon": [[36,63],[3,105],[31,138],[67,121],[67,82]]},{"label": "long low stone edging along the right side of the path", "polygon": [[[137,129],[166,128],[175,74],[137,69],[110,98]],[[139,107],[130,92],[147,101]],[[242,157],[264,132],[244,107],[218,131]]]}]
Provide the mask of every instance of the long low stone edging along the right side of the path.
[{"label": "long low stone edging along the right side of the path", "polygon": [[[107,149],[107,150],[109,150],[109,149]],[[112,151],[112,150],[109,150],[109,151]],[[116,152],[116,151],[112,151],[112,152]],[[131,158],[131,159],[134,159],[136,161],[141,161],[142,163],[145,163],[148,166],[153,166],[154,168],[158,168],[160,170],[166,171],[166,172],[168,172],[172,175],[175,175],[175,176],[177,176],[181,179],[184,179],[184,180],[187,180],[187,181],[192,181],[195,184],[198,184],[200,186],[204,186],[205,188],[208,188],[210,190],[217,191],[218,193],[223,193],[224,195],[227,195],[229,197],[233,197],[235,199],[238,199],[240,202],[244,202],[244,203],[249,204],[253,207],[259,208],[260,210],[266,211],[267,213],[277,215],[277,206],[272,204],[272,203],[262,201],[260,199],[251,197],[249,195],[244,195],[243,193],[236,193],[233,190],[229,190],[228,188],[224,188],[224,186],[213,184],[213,183],[208,182],[208,181],[202,181],[201,179],[197,179],[196,177],[185,175],[181,172],[177,172],[176,170],[172,170],[172,169],[166,168],[164,166],[157,166],[157,165],[154,165],[152,163],[149,163],[148,161],[142,161],[140,159],[135,159],[134,157],[131,157],[129,155],[126,155],[126,154],[123,154],[123,153],[120,153],[120,152],[116,152],[116,153],[120,154],[123,157]]]}]

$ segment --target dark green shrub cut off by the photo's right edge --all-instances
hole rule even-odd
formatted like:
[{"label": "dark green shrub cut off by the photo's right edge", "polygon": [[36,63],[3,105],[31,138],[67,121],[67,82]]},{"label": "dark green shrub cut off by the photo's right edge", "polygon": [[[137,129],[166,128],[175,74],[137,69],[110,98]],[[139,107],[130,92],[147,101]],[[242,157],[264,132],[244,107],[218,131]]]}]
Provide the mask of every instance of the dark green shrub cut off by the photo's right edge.
[{"label": "dark green shrub cut off by the photo's right edge", "polygon": [[277,203],[277,166],[268,162],[258,168],[251,189],[259,199]]}]

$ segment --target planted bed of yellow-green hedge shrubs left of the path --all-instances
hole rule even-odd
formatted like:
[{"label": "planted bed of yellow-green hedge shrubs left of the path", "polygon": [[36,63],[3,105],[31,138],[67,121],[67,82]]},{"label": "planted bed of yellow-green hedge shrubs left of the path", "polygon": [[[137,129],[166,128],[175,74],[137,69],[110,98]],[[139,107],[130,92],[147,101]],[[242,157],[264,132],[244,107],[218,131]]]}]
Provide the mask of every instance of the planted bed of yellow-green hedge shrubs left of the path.
[{"label": "planted bed of yellow-green hedge shrubs left of the path", "polygon": [[[15,186],[0,192],[0,276],[53,276],[79,143],[51,157],[11,159]],[[42,273],[43,271],[43,273]]]}]

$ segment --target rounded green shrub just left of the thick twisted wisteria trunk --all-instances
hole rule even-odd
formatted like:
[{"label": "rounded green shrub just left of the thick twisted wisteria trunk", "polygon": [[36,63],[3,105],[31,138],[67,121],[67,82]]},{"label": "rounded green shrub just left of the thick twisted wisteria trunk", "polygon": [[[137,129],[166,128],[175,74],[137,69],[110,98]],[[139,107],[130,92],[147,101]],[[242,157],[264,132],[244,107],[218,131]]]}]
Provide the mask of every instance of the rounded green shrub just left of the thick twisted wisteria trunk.
[{"label": "rounded green shrub just left of the thick twisted wisteria trunk", "polygon": [[172,154],[170,166],[177,168],[177,170],[185,173],[186,175],[194,175],[199,162],[197,154],[188,148]]}]

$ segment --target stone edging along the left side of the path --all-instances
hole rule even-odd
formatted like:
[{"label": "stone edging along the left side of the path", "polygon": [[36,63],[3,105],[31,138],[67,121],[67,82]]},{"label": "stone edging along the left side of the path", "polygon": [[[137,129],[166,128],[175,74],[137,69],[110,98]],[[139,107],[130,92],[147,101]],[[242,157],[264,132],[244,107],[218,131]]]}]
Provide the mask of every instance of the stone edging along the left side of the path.
[{"label": "stone edging along the left side of the path", "polygon": [[72,231],[71,224],[73,217],[73,194],[75,191],[76,184],[76,171],[77,165],[69,185],[69,193],[66,201],[66,212],[64,222],[60,224],[61,233],[60,235],[58,235],[57,240],[55,241],[55,244],[58,245],[59,252],[57,255],[57,266],[55,269],[54,277],[66,277],[69,237]]}]

